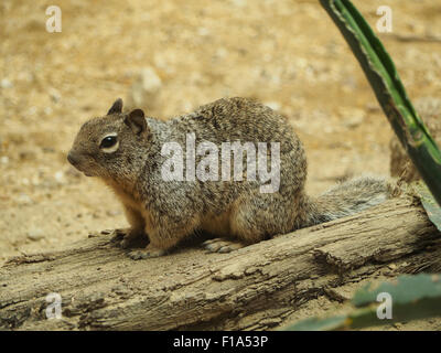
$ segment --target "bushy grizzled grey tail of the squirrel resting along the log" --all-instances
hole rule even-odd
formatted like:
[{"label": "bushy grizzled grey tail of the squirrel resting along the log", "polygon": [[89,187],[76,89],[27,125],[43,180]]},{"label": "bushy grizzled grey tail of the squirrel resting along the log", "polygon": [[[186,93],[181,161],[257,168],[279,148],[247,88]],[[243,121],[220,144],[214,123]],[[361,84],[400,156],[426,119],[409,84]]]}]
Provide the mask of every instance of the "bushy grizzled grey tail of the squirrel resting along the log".
[{"label": "bushy grizzled grey tail of the squirrel resting along the log", "polygon": [[377,205],[394,193],[386,179],[361,176],[342,182],[313,201],[311,224],[348,216]]}]

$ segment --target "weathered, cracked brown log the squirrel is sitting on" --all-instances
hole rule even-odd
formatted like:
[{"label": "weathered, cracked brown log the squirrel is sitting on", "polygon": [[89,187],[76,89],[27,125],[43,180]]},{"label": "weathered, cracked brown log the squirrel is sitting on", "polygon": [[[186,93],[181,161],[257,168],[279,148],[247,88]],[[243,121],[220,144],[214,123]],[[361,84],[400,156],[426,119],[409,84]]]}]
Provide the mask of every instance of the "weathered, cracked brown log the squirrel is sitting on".
[{"label": "weathered, cracked brown log the squirrel is sitting on", "polygon": [[[0,328],[267,330],[390,263],[441,269],[440,233],[410,197],[230,254],[194,245],[133,261],[125,253],[100,235],[10,259],[0,268]],[[51,292],[62,297],[61,320],[46,319]]]}]

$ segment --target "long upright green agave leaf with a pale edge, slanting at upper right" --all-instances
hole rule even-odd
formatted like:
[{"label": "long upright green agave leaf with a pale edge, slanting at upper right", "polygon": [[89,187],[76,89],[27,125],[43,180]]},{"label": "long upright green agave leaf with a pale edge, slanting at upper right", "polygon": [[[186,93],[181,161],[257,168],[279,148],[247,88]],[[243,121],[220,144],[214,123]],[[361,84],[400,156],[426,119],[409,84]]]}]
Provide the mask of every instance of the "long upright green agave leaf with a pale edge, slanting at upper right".
[{"label": "long upright green agave leaf with a pale edge, slanting at upper right", "polygon": [[441,205],[441,152],[415,110],[392,60],[349,0],[320,0],[362,65],[399,140]]}]

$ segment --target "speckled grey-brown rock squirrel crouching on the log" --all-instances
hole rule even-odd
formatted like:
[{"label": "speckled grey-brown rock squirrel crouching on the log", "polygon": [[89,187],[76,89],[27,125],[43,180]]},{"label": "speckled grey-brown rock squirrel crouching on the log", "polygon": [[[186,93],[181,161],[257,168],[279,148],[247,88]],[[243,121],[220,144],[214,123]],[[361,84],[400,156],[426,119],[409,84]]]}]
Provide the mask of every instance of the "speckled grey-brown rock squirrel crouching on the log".
[{"label": "speckled grey-brown rock squirrel crouching on the log", "polygon": [[[204,148],[195,151],[197,146]],[[248,149],[235,159],[234,146]],[[180,163],[181,157],[194,163]],[[130,224],[122,247],[148,237],[144,249],[129,253],[133,259],[161,256],[197,232],[218,237],[204,243],[208,250],[227,253],[391,195],[389,182],[370,176],[319,197],[306,195],[306,158],[298,136],[283,116],[248,98],[222,98],[168,121],[144,117],[141,109],[122,113],[117,99],[106,116],[82,126],[67,159],[121,201]],[[237,172],[240,162],[247,168]],[[271,180],[263,178],[268,169]]]}]

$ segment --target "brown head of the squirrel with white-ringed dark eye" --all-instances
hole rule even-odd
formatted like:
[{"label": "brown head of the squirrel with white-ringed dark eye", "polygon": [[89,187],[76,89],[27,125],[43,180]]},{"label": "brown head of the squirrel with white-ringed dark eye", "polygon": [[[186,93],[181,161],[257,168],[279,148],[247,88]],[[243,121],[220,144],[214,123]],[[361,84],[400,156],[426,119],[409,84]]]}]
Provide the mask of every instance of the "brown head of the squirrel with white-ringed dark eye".
[{"label": "brown head of the squirrel with white-ringed dark eye", "polygon": [[87,176],[133,180],[133,173],[142,168],[140,157],[149,138],[144,113],[122,113],[122,99],[118,98],[106,116],[82,126],[67,160]]}]

